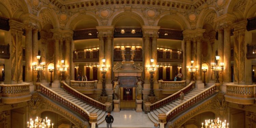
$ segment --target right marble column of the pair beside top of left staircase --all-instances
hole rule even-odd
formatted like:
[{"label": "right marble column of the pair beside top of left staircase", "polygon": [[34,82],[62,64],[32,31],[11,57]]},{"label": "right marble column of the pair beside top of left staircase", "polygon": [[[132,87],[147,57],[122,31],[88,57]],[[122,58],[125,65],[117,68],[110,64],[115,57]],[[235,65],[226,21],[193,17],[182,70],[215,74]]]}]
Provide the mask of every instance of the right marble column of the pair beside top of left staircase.
[{"label": "right marble column of the pair beside top of left staircase", "polygon": [[[65,65],[69,66],[69,69],[71,68],[70,66],[70,41],[72,40],[72,35],[71,37],[65,38]],[[65,74],[66,79],[65,82],[69,85],[70,83],[70,71],[68,70]]]}]

